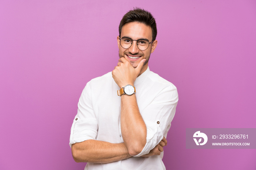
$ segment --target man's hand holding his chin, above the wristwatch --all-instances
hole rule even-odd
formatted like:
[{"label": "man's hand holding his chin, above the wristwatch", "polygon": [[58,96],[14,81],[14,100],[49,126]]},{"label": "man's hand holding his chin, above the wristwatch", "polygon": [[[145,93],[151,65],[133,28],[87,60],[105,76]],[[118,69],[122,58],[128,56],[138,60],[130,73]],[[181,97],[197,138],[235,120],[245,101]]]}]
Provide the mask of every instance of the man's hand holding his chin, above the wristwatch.
[{"label": "man's hand holding his chin, above the wristwatch", "polygon": [[142,59],[142,61],[139,62],[138,66],[136,68],[133,68],[131,63],[124,57],[121,57],[118,60],[117,66],[112,71],[112,77],[114,78],[114,81],[120,89],[127,84],[133,86],[133,83],[138,77],[145,61],[146,59]]}]

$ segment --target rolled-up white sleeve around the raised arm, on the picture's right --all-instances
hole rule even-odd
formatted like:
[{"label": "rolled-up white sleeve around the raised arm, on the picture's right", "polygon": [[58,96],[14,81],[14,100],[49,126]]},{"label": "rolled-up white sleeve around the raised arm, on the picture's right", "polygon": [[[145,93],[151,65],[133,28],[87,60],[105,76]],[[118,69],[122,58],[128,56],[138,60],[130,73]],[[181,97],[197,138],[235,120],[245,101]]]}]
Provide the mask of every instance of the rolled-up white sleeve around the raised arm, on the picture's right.
[{"label": "rolled-up white sleeve around the raised arm, on the picture's right", "polygon": [[[157,94],[154,100],[141,112],[147,127],[147,142],[142,152],[135,157],[148,154],[166,137],[178,103],[178,92],[174,85],[167,86]],[[144,118],[143,115],[147,115]]]}]

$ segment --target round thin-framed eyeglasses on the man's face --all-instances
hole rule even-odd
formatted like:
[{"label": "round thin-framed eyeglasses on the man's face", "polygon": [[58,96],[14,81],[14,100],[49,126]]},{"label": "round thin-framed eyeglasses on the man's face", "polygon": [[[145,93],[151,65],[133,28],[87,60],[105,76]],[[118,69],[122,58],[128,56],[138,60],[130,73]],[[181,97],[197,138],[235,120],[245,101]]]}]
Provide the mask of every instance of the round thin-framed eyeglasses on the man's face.
[{"label": "round thin-framed eyeglasses on the man's face", "polygon": [[[120,37],[119,37],[120,39]],[[146,39],[138,39],[138,40],[134,40],[134,39],[131,39],[131,38],[121,38],[120,39],[120,45],[124,48],[124,49],[129,49],[131,46],[132,46],[132,42],[133,41],[137,41],[137,47],[138,49],[144,51],[144,50],[147,50],[148,46],[150,43],[152,42],[149,42],[148,40]]]}]

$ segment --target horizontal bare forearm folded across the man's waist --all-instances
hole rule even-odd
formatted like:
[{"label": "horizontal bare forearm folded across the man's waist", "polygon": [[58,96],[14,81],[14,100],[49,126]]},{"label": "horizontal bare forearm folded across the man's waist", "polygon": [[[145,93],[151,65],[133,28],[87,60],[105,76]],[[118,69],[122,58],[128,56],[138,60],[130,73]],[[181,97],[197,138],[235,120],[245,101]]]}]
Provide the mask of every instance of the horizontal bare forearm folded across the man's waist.
[{"label": "horizontal bare forearm folded across the man's waist", "polygon": [[109,143],[99,140],[86,140],[72,144],[76,162],[109,163],[131,157],[124,143]]}]

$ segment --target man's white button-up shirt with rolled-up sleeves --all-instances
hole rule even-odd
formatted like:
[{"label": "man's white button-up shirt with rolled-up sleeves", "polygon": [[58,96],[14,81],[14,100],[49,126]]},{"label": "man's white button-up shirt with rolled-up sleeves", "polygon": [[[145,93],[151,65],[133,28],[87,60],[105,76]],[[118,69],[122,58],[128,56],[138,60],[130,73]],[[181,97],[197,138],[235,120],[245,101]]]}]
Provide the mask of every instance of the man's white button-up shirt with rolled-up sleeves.
[{"label": "man's white button-up shirt with rolled-up sleeves", "polygon": [[[136,100],[147,127],[147,143],[136,157],[111,163],[87,163],[85,170],[163,170],[161,155],[140,157],[152,150],[167,135],[174,117],[177,88],[147,68],[136,78]],[[109,72],[89,81],[79,99],[78,113],[71,127],[69,145],[88,139],[122,143],[120,90]],[[124,94],[125,95],[125,94]]]}]

